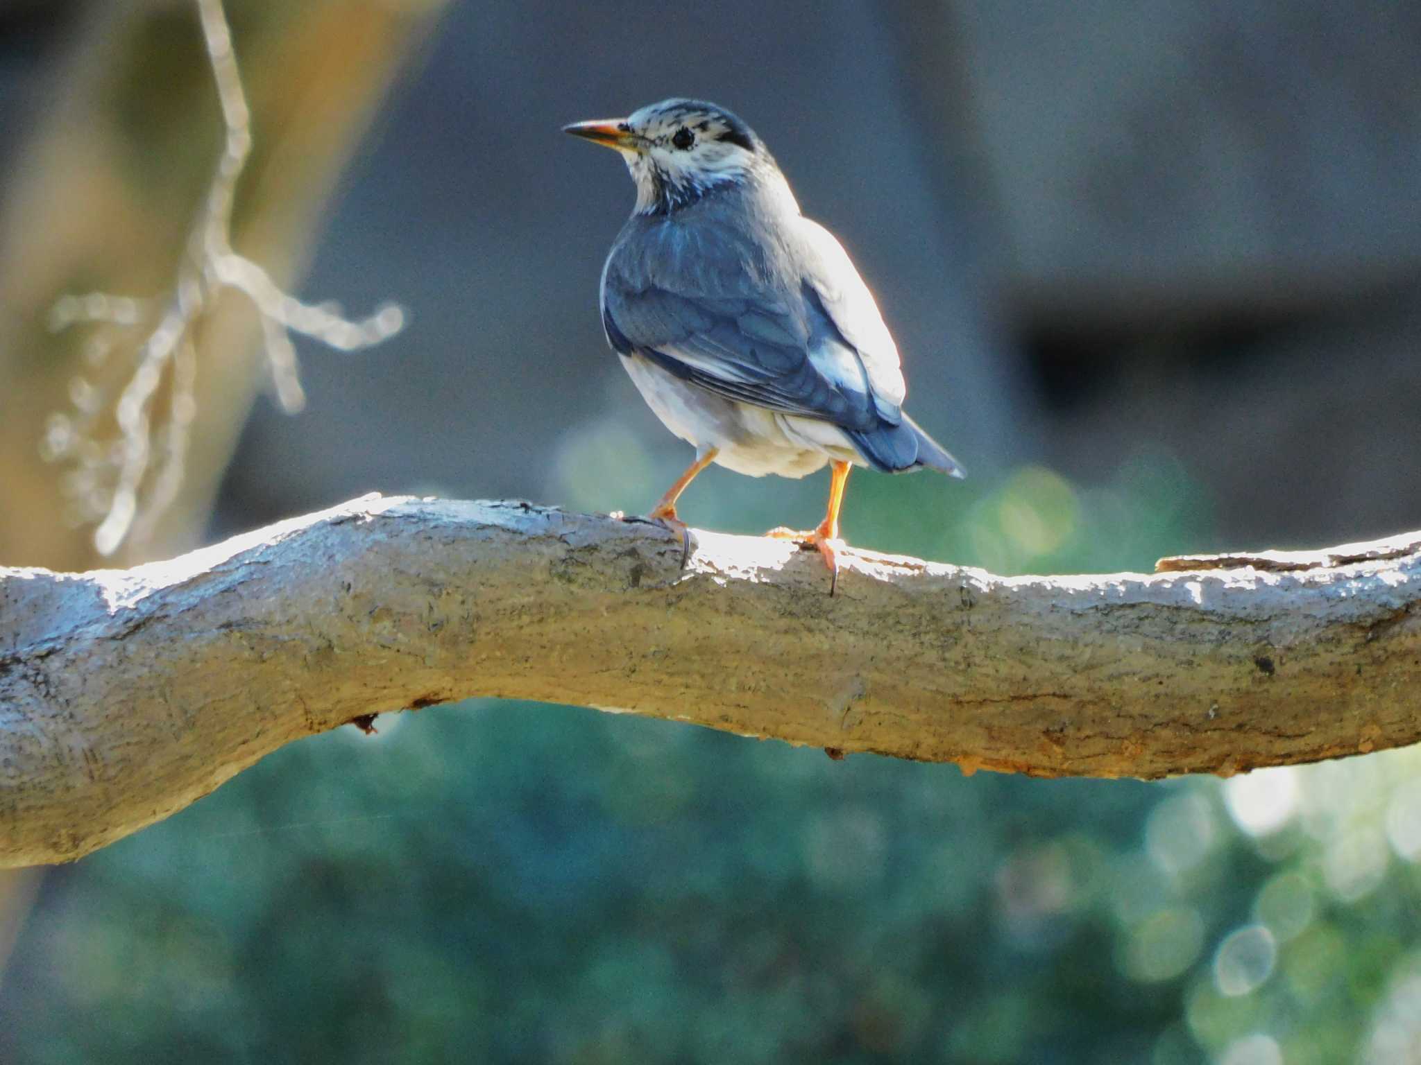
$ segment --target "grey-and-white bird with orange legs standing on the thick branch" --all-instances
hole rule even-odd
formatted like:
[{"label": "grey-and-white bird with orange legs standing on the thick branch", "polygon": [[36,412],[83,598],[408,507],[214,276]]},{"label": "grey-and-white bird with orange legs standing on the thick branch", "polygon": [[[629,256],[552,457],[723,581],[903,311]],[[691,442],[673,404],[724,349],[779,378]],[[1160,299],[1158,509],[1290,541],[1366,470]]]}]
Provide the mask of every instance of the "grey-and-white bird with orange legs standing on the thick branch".
[{"label": "grey-and-white bird with orange legs standing on the thick branch", "polygon": [[898,348],[868,285],[732,111],[675,97],[563,129],[621,153],[635,182],[603,267],[603,329],[652,412],[696,449],[647,517],[681,535],[685,565],[676,501],[710,463],[752,477],[827,464],[818,527],[767,535],[817,548],[833,595],[854,466],[965,476],[904,412]]}]

